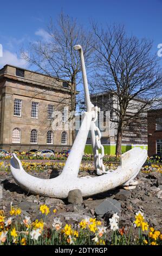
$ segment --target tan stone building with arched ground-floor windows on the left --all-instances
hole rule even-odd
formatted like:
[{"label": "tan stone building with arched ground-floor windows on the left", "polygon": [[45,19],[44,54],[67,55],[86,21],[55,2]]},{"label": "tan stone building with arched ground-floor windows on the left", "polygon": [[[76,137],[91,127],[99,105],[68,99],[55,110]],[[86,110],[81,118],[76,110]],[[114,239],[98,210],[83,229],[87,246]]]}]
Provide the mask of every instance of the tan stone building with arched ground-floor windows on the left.
[{"label": "tan stone building with arched ground-floor windows on the left", "polygon": [[0,89],[1,149],[69,149],[72,132],[67,127],[70,90],[66,81],[5,65],[0,70]]}]

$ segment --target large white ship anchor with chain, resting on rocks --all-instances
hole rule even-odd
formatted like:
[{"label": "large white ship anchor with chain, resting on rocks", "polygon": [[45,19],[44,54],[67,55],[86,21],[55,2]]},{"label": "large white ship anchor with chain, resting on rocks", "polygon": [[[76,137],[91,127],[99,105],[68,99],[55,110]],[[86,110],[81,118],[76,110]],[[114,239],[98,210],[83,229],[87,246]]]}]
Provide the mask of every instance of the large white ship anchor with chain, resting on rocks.
[{"label": "large white ship anchor with chain, resting on rocks", "polygon": [[[87,112],[83,114],[84,117],[81,127],[77,133],[62,173],[53,179],[36,178],[25,172],[21,161],[15,154],[13,154],[11,157],[10,168],[14,180],[25,191],[54,198],[66,198],[68,197],[69,191],[75,189],[81,190],[82,196],[87,197],[112,190],[121,185],[125,186],[126,189],[131,187],[134,188],[134,186],[137,185],[137,182],[134,182],[133,179],[137,176],[147,159],[147,150],[133,148],[121,155],[121,163],[116,170],[113,172],[105,170],[105,166],[102,162],[104,149],[100,141],[101,132],[95,125],[100,109],[94,107],[90,101],[82,47],[76,45],[74,46],[74,50],[78,50],[80,53]],[[89,130],[91,132],[95,168],[97,174],[100,176],[94,178],[89,178],[89,176],[78,178],[77,175],[79,173]],[[101,150],[101,153],[99,153],[99,149]]]}]

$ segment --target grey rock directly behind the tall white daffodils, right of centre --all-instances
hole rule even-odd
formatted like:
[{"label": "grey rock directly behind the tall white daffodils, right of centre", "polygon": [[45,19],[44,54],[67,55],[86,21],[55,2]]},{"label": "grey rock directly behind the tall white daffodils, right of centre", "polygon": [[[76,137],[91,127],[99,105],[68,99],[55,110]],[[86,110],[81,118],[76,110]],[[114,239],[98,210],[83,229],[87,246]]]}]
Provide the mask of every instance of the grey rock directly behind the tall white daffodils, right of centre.
[{"label": "grey rock directly behind the tall white daffodils, right of centre", "polygon": [[111,199],[111,198],[107,198],[106,200],[104,200],[101,204],[99,204],[96,208],[95,208],[95,213],[97,215],[104,215],[107,212],[112,211],[114,213],[118,213],[120,214],[121,212],[121,203],[118,202],[115,199]]}]

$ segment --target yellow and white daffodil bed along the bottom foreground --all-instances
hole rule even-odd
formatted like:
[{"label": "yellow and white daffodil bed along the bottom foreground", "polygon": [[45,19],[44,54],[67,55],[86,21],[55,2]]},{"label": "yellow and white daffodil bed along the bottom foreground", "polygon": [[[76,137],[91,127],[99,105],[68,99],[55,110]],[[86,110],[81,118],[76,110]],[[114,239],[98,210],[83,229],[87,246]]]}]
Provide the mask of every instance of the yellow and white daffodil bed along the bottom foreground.
[{"label": "yellow and white daffodil bed along the bottom foreground", "polygon": [[[0,245],[162,245],[162,234],[149,227],[144,213],[138,211],[130,230],[119,228],[119,216],[109,218],[109,226],[96,218],[86,218],[78,224],[63,225],[55,217],[51,227],[47,227],[46,216],[50,209],[40,206],[44,220],[31,222],[30,217],[21,216],[21,209],[11,203],[10,217],[0,211]],[[135,233],[135,229],[138,232]],[[134,232],[134,233],[133,233]],[[138,233],[138,235],[137,235]]]}]

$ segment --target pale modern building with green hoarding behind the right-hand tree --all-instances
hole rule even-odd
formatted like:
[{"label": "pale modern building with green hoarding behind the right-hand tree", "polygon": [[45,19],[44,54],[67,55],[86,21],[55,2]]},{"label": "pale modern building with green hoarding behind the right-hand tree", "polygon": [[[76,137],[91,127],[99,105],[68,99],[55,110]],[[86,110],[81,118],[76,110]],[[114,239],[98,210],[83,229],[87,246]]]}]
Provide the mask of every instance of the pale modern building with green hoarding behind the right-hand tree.
[{"label": "pale modern building with green hoarding behind the right-hand tree", "polygon": [[[103,123],[103,127],[101,127],[101,143],[105,148],[105,153],[114,155],[116,149],[119,102],[113,92],[93,94],[90,96],[90,99],[94,106],[98,106],[101,109],[101,117],[99,118],[98,126],[100,127],[100,124]],[[144,101],[141,99],[135,99],[129,103],[126,113],[127,123],[124,127],[122,137],[121,153],[125,153],[133,147],[147,149],[147,113],[142,113],[134,117],[134,113],[138,112],[142,103],[144,103]],[[105,129],[103,129],[104,126]],[[86,153],[92,153],[92,147],[89,144],[90,136],[87,139]]]}]

